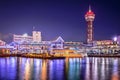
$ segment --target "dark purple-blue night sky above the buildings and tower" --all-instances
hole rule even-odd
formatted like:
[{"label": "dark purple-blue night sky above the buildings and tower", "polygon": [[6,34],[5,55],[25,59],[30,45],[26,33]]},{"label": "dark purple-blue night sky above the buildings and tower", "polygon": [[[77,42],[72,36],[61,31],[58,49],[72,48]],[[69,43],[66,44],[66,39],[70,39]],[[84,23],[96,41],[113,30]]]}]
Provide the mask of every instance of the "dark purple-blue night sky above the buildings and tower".
[{"label": "dark purple-blue night sky above the buildings and tower", "polygon": [[43,40],[85,41],[89,4],[96,14],[94,39],[119,35],[119,0],[0,0],[0,33],[31,35],[35,26]]}]

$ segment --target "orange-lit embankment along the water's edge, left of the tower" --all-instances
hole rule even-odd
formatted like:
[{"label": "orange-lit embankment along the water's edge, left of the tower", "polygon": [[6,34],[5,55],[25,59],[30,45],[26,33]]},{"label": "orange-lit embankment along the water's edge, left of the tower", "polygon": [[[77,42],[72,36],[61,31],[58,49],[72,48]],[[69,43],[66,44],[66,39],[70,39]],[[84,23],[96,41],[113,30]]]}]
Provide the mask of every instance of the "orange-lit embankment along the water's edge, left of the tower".
[{"label": "orange-lit embankment along the water's edge, left of the tower", "polygon": [[26,57],[42,59],[64,59],[64,58],[82,58],[80,54],[0,54],[0,57]]}]

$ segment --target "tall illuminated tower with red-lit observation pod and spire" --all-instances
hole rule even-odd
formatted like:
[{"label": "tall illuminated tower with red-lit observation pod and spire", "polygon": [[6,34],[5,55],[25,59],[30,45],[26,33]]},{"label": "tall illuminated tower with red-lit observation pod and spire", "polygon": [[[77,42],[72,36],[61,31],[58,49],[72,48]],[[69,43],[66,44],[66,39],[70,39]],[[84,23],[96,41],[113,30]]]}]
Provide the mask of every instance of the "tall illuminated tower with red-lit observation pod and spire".
[{"label": "tall illuminated tower with red-lit observation pod and spire", "polygon": [[94,12],[92,12],[89,6],[89,11],[85,14],[85,20],[87,21],[87,43],[93,42],[93,21],[95,18]]}]

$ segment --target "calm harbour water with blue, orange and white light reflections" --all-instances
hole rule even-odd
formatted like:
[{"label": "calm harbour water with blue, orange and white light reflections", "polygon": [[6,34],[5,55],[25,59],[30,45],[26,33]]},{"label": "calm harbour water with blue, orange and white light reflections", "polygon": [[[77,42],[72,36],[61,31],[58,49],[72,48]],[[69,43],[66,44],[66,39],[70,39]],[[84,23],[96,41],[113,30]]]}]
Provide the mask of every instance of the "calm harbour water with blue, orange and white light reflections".
[{"label": "calm harbour water with blue, orange and white light reflections", "polygon": [[120,58],[0,58],[0,80],[120,80]]}]

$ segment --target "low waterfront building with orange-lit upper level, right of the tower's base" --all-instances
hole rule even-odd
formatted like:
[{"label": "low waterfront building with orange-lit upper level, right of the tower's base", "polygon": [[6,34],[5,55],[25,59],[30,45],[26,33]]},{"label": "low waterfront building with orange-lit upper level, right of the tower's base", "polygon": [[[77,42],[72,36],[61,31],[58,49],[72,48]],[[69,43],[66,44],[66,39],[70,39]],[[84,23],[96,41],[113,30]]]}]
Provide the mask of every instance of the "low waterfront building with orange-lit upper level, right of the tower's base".
[{"label": "low waterfront building with orange-lit upper level, right of the tower's base", "polygon": [[98,40],[93,41],[93,47],[86,47],[87,53],[116,53],[119,46],[113,40]]}]

